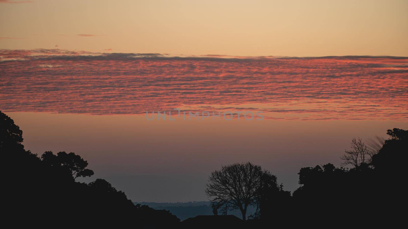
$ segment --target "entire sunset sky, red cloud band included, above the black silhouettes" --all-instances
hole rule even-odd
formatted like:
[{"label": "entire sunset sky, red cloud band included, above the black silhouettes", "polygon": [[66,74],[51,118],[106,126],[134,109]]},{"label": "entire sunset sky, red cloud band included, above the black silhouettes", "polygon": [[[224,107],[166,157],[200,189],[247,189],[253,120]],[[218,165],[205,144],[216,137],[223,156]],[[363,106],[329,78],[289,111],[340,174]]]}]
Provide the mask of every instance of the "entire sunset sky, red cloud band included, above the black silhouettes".
[{"label": "entire sunset sky, red cloud band included, above the black silhouettes", "polygon": [[293,191],[301,167],[340,166],[352,138],[408,128],[407,11],[0,0],[0,110],[27,150],[75,152],[95,172],[80,181],[133,201],[206,200],[208,175],[245,161]]}]

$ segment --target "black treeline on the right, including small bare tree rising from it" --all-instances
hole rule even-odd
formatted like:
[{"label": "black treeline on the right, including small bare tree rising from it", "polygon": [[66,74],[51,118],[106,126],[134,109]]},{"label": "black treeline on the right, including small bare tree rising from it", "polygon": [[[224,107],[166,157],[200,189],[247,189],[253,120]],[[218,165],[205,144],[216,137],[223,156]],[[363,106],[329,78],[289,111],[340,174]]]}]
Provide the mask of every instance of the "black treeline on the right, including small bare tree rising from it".
[{"label": "black treeline on the right, including small bare tree rising from it", "polygon": [[331,163],[302,168],[301,186],[292,195],[298,218],[318,216],[343,225],[398,222],[402,212],[397,206],[405,199],[399,192],[406,180],[408,130],[394,128],[387,134],[377,150],[353,139],[351,150],[341,156],[342,165],[350,168]]}]

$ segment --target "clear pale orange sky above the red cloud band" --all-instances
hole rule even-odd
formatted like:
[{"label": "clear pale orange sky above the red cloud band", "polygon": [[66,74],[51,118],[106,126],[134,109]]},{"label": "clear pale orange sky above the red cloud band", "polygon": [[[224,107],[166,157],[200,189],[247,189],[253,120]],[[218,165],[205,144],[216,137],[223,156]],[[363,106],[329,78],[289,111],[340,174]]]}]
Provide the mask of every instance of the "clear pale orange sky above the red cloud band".
[{"label": "clear pale orange sky above the red cloud band", "polygon": [[405,0],[2,0],[0,48],[408,56],[406,12]]}]

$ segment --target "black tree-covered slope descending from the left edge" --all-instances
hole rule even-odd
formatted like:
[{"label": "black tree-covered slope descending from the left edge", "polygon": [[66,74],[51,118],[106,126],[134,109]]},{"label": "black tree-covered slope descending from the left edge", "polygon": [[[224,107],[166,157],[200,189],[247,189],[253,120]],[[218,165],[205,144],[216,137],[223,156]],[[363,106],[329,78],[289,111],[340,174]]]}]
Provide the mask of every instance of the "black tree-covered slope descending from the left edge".
[{"label": "black tree-covered slope descending from the left edge", "polygon": [[3,186],[7,196],[3,207],[11,218],[46,216],[67,223],[86,219],[94,225],[120,222],[142,228],[171,226],[180,221],[169,211],[134,205],[124,192],[104,179],[88,184],[75,181],[77,177],[93,175],[81,156],[51,151],[39,156],[25,150],[22,141],[20,128],[0,112],[1,168],[3,174],[8,174]]}]

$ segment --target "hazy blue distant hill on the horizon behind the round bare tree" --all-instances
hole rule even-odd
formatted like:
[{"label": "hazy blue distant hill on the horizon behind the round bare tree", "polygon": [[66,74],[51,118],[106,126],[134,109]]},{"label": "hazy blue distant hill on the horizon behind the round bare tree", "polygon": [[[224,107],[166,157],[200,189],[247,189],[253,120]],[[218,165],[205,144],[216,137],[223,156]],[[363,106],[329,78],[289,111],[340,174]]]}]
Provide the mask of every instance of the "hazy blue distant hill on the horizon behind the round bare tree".
[{"label": "hazy blue distant hill on the horizon behind the round bare tree", "polygon": [[[177,216],[180,220],[186,218],[212,215],[213,209],[211,209],[211,203],[209,201],[193,201],[193,202],[177,202],[177,203],[156,203],[156,202],[133,202],[141,205],[148,205],[149,207],[157,210],[165,209]],[[247,217],[255,213],[254,207],[248,207]],[[228,211],[228,214],[242,218],[240,211]]]}]

